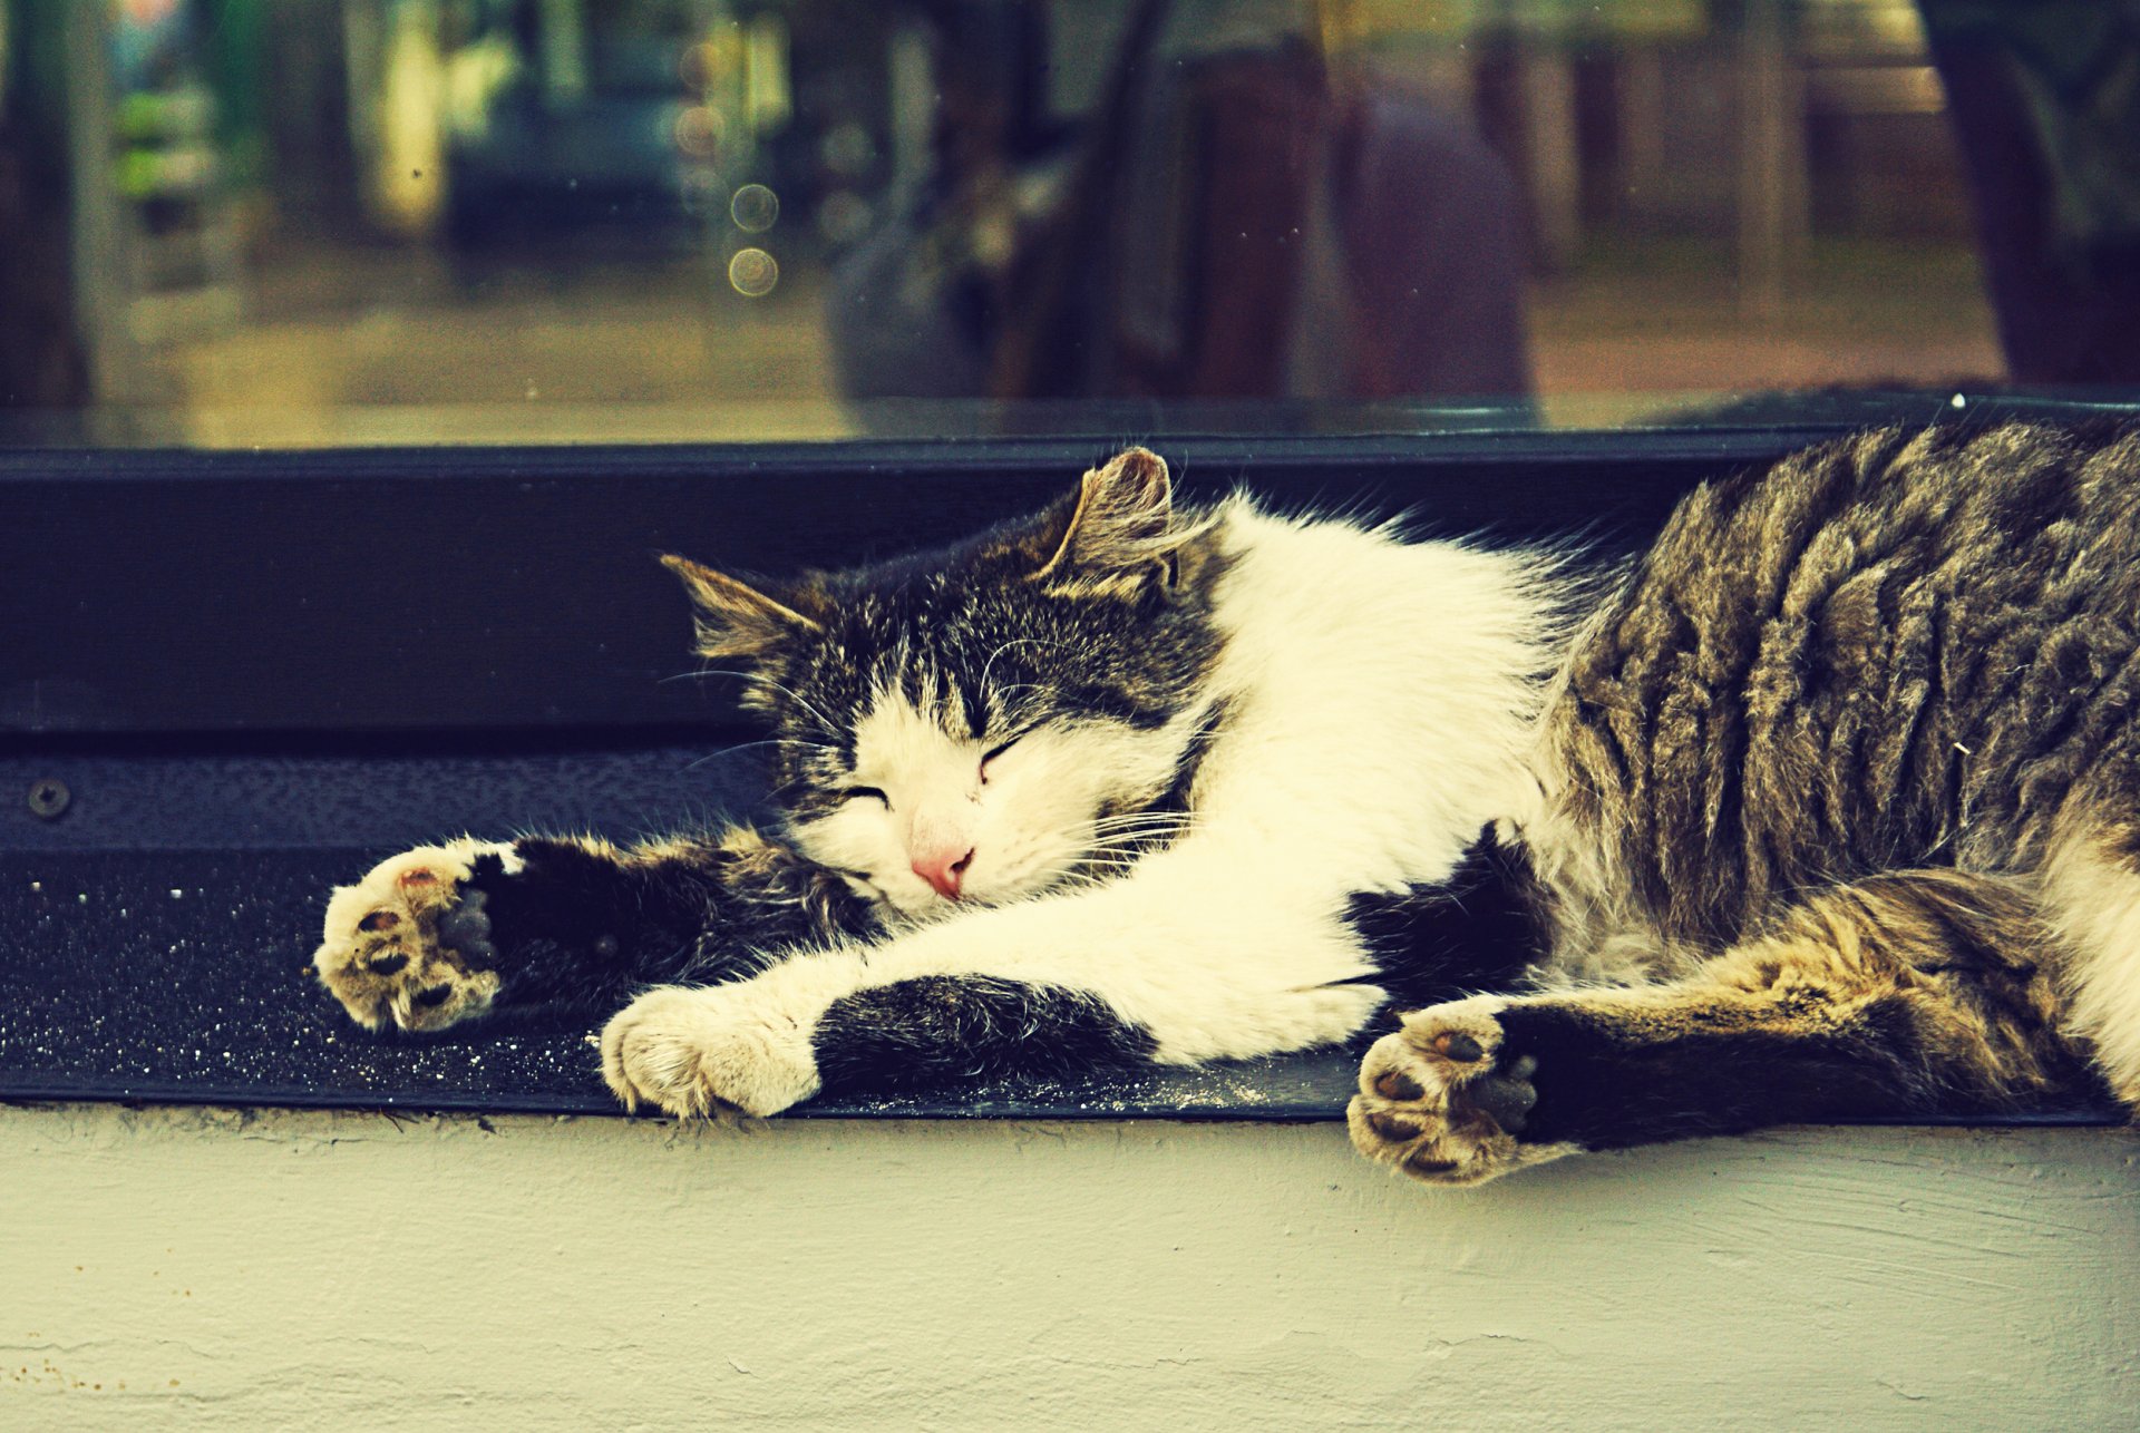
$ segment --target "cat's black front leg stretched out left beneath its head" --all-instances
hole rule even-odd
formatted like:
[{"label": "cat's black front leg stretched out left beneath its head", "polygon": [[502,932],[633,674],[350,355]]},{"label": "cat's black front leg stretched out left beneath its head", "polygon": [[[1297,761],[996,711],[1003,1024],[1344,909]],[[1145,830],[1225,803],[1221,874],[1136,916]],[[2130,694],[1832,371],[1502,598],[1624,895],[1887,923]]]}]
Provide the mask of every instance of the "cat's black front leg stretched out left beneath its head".
[{"label": "cat's black front leg stretched out left beneath its head", "polygon": [[865,900],[749,828],[618,849],[526,836],[402,851],[327,900],[321,984],[368,1029],[503,1007],[610,1012],[661,980],[732,980],[755,952],[862,935]]}]

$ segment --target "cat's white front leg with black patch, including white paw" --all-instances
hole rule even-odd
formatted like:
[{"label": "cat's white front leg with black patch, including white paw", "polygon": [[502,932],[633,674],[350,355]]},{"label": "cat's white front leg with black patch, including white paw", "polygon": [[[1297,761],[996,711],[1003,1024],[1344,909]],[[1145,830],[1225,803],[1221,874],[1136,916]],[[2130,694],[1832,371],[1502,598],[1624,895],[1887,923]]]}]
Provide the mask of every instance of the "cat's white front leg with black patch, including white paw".
[{"label": "cat's white front leg with black patch, including white paw", "polygon": [[1290,877],[1177,849],[1106,885],[978,909],[875,947],[648,990],[603,1029],[603,1076],[629,1108],[775,1114],[826,1089],[1333,1044],[1387,992],[1348,898]]}]

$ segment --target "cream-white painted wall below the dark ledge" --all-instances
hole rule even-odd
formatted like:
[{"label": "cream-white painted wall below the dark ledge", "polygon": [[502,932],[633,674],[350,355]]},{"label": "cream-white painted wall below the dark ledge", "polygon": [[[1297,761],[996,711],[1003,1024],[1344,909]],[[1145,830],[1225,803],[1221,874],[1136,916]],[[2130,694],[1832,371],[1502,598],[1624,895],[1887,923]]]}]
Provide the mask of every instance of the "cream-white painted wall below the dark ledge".
[{"label": "cream-white painted wall below the dark ledge", "polygon": [[2140,1136],[0,1110],[0,1429],[2131,1429]]}]

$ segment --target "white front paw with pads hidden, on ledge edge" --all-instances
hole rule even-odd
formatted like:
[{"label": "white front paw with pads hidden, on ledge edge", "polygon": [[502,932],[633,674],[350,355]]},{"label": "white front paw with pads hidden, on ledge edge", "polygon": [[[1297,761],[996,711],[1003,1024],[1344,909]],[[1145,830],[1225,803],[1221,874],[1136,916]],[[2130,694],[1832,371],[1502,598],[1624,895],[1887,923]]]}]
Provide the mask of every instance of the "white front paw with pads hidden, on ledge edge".
[{"label": "white front paw with pads hidden, on ledge edge", "polygon": [[627,1110],[678,1119],[779,1114],[820,1089],[809,1029],[755,999],[755,984],[661,986],[601,1031],[601,1078]]}]

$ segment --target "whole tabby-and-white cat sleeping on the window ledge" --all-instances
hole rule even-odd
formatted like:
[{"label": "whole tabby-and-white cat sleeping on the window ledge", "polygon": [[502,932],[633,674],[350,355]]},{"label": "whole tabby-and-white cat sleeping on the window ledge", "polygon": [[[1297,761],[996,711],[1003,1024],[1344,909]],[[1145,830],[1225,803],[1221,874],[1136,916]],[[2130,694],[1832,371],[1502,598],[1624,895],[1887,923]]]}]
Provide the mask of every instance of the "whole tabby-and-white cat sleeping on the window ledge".
[{"label": "whole tabby-and-white cat sleeping on the window ledge", "polygon": [[770,727],[777,830],[409,851],[315,965],[372,1027],[623,1005],[603,1076],[676,1114],[1395,1005],[1352,1138],[1436,1183],[2134,1101],[2136,477],[2127,434],[1872,432],[1588,571],[1183,511],[1132,449],[944,554],[670,558]]}]

